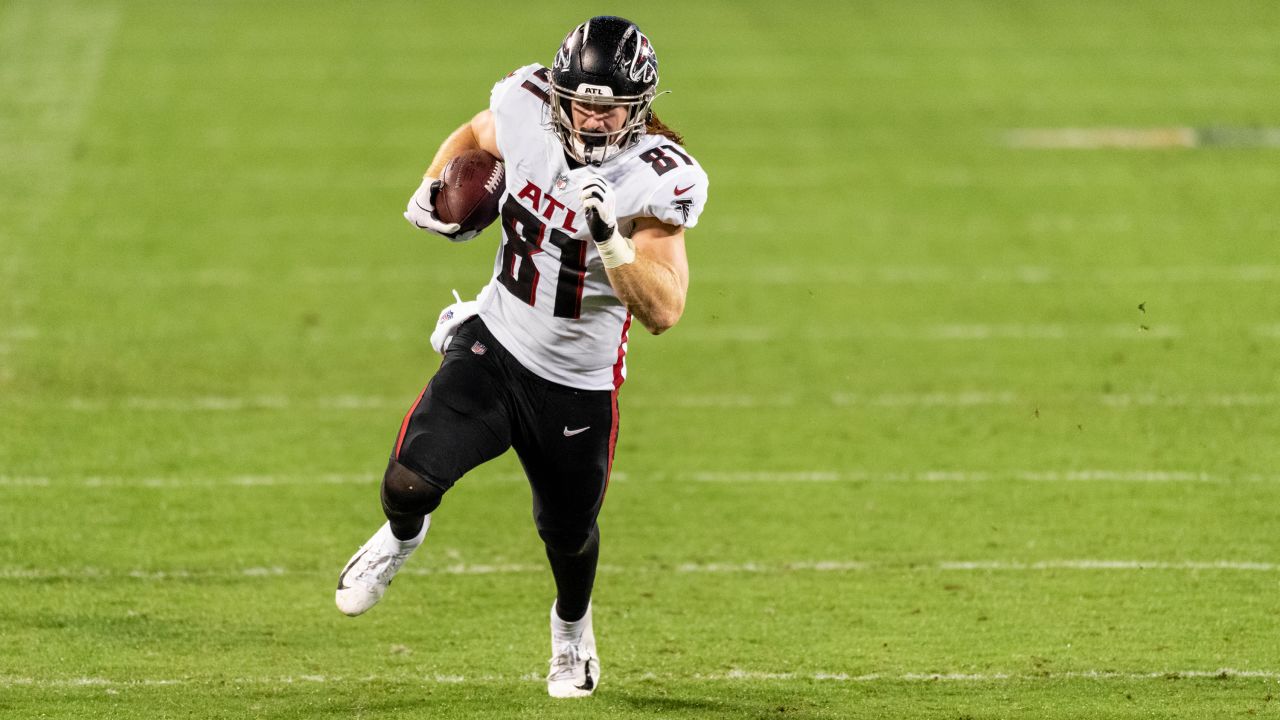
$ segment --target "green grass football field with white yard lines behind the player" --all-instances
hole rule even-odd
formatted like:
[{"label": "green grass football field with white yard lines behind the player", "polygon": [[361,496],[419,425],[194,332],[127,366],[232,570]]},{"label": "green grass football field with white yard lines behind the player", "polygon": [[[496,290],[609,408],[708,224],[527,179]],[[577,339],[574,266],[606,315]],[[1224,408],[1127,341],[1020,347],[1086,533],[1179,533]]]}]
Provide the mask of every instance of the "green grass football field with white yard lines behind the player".
[{"label": "green grass football field with white yard lines behind the player", "polygon": [[[803,6],[801,6],[803,8]],[[401,218],[586,15],[712,178],[632,337],[588,701],[518,464],[387,600]],[[0,717],[1280,716],[1280,5],[0,3]]]}]

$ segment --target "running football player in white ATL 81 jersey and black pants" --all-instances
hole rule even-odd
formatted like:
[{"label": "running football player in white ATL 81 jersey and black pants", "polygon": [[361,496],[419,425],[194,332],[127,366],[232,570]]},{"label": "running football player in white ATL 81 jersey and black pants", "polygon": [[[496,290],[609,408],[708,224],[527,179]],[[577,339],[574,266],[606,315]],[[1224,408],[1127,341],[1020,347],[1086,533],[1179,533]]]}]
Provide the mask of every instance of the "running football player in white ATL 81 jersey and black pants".
[{"label": "running football player in white ATL 81 jersey and black pants", "polygon": [[513,447],[556,580],[553,697],[600,680],[591,588],[596,516],[618,439],[618,388],[635,318],[658,334],[689,288],[685,229],[707,202],[707,174],[652,110],[658,58],[630,20],[573,28],[550,68],[499,81],[489,108],[440,145],[404,217],[454,241],[434,211],[436,179],[483,149],[506,164],[502,243],[476,300],[442,314],[444,360],[404,416],[381,484],[383,525],[347,562],[337,603],[372,607],[422,542],[431,512],[472,468]]}]

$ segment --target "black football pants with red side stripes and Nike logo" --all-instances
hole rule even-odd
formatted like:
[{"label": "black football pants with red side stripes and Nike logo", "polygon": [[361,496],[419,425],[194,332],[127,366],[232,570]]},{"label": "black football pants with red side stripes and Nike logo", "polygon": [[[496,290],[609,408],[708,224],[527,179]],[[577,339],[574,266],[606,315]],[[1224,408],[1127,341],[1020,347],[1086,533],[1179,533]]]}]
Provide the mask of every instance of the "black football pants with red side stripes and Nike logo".
[{"label": "black football pants with red side stripes and Nike logo", "polygon": [[561,616],[575,620],[586,611],[594,583],[596,518],[617,420],[616,391],[571,388],[530,373],[472,318],[404,416],[393,460],[447,491],[513,447],[532,488],[534,523],[556,575]]}]

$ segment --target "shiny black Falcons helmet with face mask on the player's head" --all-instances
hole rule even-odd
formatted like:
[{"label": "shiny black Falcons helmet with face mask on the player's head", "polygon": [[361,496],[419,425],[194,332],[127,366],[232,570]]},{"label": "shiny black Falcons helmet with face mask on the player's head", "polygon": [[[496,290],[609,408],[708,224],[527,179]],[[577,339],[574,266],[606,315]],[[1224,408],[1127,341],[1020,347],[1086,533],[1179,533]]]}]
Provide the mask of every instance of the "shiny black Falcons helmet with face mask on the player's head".
[{"label": "shiny black Falcons helmet with face mask on the player's head", "polygon": [[[550,73],[552,128],[564,154],[599,165],[635,145],[644,135],[658,90],[658,56],[649,38],[630,20],[596,17],[564,38]],[[573,104],[626,109],[618,128],[579,129]]]}]

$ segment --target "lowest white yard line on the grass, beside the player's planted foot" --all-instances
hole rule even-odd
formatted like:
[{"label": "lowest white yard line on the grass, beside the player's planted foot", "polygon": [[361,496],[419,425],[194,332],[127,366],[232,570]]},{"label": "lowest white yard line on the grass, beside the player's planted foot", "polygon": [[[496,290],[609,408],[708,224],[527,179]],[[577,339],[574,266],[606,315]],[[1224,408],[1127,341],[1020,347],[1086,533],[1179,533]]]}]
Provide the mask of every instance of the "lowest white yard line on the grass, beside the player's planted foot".
[{"label": "lowest white yard line on the grass, beside the player's planted foot", "polygon": [[[1280,680],[1277,670],[1238,670],[1234,667],[1219,667],[1216,670],[1181,669],[1181,670],[1139,670],[1139,671],[1114,671],[1114,670],[1068,670],[1060,673],[847,673],[840,670],[787,673],[771,670],[727,670],[723,673],[643,673],[643,674],[613,674],[609,683],[652,683],[652,682],[703,682],[703,683],[970,683],[970,684],[1007,684],[1007,683],[1053,683],[1061,680],[1100,680],[1135,683],[1148,680],[1179,680],[1179,679],[1215,679],[1215,680]],[[250,675],[250,676],[183,676],[183,678],[132,678],[114,679],[102,676],[78,678],[31,678],[8,675],[0,676],[0,688],[137,688],[137,687],[192,687],[192,685],[346,685],[346,684],[517,684],[541,683],[543,678],[538,673],[524,675],[456,675],[456,674],[422,674],[422,675]]]}]

